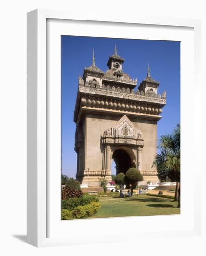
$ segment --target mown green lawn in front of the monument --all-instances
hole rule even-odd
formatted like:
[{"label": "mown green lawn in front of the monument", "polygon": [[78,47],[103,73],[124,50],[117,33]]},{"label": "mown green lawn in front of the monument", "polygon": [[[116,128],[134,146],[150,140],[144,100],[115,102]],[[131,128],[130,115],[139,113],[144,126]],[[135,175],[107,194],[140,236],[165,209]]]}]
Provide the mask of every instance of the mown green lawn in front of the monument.
[{"label": "mown green lawn in front of the monument", "polygon": [[132,198],[100,198],[100,210],[90,218],[180,214],[173,199],[139,195]]}]

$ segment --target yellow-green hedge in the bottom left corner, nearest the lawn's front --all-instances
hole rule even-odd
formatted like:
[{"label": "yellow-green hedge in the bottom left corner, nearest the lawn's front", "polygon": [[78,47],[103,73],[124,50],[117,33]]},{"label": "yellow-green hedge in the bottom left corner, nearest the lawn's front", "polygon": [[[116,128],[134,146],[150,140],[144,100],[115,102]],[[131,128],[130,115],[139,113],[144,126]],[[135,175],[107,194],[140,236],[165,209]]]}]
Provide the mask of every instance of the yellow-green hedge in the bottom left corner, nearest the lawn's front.
[{"label": "yellow-green hedge in the bottom left corner, nearest the lawn's front", "polygon": [[73,210],[62,209],[61,210],[61,219],[62,220],[73,220],[81,219],[92,216],[100,209],[99,202],[91,202],[87,205],[78,206]]}]

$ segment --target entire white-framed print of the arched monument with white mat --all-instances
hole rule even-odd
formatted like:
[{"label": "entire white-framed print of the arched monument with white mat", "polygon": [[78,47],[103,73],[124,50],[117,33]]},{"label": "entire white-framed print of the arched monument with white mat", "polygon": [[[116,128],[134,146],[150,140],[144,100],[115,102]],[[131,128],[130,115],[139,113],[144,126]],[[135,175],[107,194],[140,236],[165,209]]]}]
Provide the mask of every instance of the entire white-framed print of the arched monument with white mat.
[{"label": "entire white-framed print of the arched monument with white mat", "polygon": [[27,13],[27,243],[200,236],[199,29]]}]

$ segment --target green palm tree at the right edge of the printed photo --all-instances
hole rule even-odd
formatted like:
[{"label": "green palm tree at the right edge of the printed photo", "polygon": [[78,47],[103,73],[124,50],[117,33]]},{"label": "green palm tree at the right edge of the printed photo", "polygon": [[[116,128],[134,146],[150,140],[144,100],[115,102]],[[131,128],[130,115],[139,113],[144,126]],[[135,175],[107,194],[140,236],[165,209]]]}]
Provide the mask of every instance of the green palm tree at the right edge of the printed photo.
[{"label": "green palm tree at the right edge of the printed photo", "polygon": [[170,179],[177,182],[174,200],[180,207],[180,124],[170,135],[162,135],[159,140],[161,152],[156,154],[152,166],[157,169],[166,168]]}]

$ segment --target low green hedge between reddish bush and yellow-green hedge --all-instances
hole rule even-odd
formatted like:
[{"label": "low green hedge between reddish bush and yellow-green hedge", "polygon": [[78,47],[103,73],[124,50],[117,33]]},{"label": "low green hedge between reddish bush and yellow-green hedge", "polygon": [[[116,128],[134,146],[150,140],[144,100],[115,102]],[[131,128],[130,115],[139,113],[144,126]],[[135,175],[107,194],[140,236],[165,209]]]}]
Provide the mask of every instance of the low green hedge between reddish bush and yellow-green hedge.
[{"label": "low green hedge between reddish bush and yellow-green hedge", "polygon": [[83,197],[69,198],[61,200],[61,209],[73,210],[77,206],[84,206],[91,202],[99,202],[94,195],[84,195]]}]

